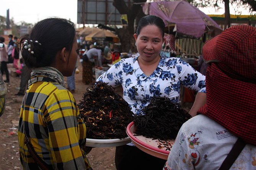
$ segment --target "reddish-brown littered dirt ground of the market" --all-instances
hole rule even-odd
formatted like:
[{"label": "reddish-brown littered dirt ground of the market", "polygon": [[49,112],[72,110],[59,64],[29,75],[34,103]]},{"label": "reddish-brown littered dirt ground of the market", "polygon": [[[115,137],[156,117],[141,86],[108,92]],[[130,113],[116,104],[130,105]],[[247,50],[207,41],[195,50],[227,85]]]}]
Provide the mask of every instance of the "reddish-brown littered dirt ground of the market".
[{"label": "reddish-brown littered dirt ground of the market", "polygon": [[[8,68],[12,68],[11,64]],[[79,73],[75,74],[76,90],[73,94],[76,102],[82,99],[87,85],[82,83],[82,67],[79,63]],[[5,75],[3,75],[5,80]],[[66,78],[65,78],[66,80]],[[8,92],[6,94],[6,109],[0,117],[0,170],[23,169],[19,161],[18,146],[18,121],[19,109],[23,96],[15,96],[20,83],[19,77],[10,76],[10,83],[6,83]],[[93,148],[87,155],[94,170],[116,170],[115,147]]]}]

